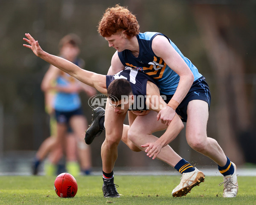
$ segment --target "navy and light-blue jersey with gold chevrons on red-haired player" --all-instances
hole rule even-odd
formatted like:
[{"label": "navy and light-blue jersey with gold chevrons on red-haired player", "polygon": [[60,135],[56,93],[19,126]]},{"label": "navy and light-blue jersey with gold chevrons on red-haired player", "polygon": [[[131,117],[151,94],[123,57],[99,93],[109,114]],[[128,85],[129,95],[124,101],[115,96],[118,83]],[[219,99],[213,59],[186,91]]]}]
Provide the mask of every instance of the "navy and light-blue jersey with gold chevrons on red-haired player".
[{"label": "navy and light-blue jersey with gold chevrons on red-haired player", "polygon": [[[130,50],[127,49],[122,52],[118,52],[118,56],[124,66],[129,66],[143,71],[154,78],[160,87],[160,93],[173,95],[177,89],[180,77],[163,61],[162,58],[154,54],[152,50],[152,40],[156,35],[163,34],[157,32],[145,32],[137,35],[137,40],[140,46],[140,52],[137,58],[132,55]],[[180,52],[177,46],[166,35],[163,36],[169,40],[172,47],[189,66],[189,69],[194,75],[194,81],[201,78],[202,75],[198,72],[198,69],[191,63],[191,61]]]}]

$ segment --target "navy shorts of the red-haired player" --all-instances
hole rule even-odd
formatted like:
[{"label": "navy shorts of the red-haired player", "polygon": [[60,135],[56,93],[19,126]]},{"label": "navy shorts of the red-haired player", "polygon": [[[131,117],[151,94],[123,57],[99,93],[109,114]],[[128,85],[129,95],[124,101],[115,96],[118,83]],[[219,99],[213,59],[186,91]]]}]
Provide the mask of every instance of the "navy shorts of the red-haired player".
[{"label": "navy shorts of the red-haired player", "polygon": [[[161,94],[163,95],[163,94]],[[173,95],[166,95],[165,102],[168,103]],[[176,113],[181,116],[181,120],[183,122],[187,121],[187,107],[190,101],[192,100],[202,100],[208,103],[208,107],[211,104],[211,93],[209,90],[209,86],[205,81],[204,76],[194,81],[192,84],[188,94],[183,99],[183,101],[179,104],[176,109]]]}]

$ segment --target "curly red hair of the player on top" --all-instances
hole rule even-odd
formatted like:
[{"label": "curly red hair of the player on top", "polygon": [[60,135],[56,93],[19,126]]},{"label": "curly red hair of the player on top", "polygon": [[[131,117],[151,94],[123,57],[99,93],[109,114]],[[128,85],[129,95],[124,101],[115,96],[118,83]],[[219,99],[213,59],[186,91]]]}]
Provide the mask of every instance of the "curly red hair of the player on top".
[{"label": "curly red hair of the player on top", "polygon": [[126,7],[116,5],[108,8],[99,21],[98,32],[103,37],[109,37],[124,30],[128,38],[134,37],[140,32],[140,25]]}]

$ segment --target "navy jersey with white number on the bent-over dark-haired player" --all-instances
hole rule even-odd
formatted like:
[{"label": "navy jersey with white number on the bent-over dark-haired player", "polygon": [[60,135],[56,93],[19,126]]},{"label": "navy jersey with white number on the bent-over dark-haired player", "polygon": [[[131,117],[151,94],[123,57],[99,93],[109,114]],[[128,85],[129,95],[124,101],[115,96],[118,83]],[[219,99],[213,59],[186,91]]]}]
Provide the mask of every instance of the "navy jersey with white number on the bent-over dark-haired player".
[{"label": "navy jersey with white number on the bent-over dark-haired player", "polygon": [[134,95],[134,104],[129,110],[148,110],[146,106],[147,81],[155,84],[154,79],[136,69],[126,68],[115,75],[106,75],[106,86],[115,79],[126,79],[131,84],[131,89]]}]

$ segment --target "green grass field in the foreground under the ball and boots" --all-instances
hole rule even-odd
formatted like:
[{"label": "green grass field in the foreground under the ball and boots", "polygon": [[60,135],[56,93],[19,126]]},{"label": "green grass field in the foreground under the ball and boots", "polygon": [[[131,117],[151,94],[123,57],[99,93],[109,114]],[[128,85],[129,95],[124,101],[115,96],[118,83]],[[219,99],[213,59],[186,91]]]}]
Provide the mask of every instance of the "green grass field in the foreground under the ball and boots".
[{"label": "green grass field in the foreground under the ball and boots", "polygon": [[238,176],[236,198],[223,198],[221,176],[206,176],[205,182],[187,196],[173,198],[179,176],[115,176],[120,198],[104,198],[102,176],[76,177],[78,192],[74,198],[59,198],[54,191],[55,177],[0,176],[0,205],[251,205],[256,204],[256,177]]}]

